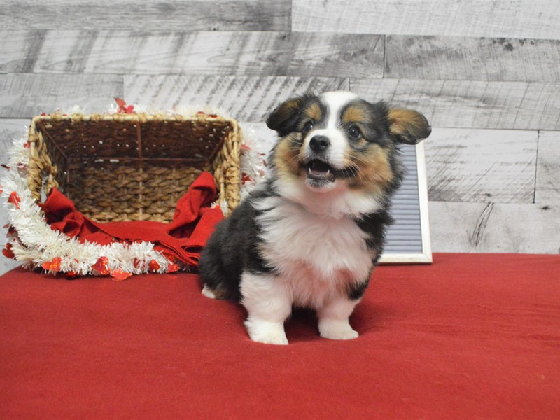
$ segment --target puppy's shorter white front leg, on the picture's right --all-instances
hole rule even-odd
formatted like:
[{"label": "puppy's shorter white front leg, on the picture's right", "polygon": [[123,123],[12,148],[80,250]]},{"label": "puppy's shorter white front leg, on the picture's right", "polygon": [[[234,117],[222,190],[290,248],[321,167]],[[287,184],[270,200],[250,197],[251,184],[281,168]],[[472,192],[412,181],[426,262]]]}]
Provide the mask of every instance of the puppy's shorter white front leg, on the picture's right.
[{"label": "puppy's shorter white front leg, on the picture's right", "polygon": [[350,326],[348,318],[360,300],[350,300],[346,296],[335,297],[317,310],[319,334],[328,339],[353,339],[358,332]]}]

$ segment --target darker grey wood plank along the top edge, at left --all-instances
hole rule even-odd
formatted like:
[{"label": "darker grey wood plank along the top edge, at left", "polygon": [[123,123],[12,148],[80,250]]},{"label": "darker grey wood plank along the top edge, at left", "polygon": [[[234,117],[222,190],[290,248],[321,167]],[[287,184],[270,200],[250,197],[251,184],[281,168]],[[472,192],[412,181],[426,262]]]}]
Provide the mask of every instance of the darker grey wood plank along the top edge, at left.
[{"label": "darker grey wood plank along the top edge, at left", "polygon": [[290,0],[3,0],[4,29],[289,31]]}]

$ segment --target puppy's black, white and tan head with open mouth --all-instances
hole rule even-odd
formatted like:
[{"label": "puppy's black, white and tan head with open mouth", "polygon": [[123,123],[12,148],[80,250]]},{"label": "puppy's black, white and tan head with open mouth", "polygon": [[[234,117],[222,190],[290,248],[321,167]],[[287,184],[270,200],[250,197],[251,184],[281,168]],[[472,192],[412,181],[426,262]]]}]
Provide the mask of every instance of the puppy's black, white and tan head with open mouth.
[{"label": "puppy's black, white and tan head with open mouth", "polygon": [[310,190],[388,192],[402,179],[397,144],[430,134],[421,113],[371,104],[351,92],[304,94],[278,106],[267,125],[279,133],[272,165]]}]

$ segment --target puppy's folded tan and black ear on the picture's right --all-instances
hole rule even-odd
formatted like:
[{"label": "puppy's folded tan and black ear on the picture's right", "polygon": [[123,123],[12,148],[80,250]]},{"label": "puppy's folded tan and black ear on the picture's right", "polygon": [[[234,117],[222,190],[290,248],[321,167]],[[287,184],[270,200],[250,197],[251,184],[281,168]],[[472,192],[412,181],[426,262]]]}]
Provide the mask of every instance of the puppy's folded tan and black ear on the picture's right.
[{"label": "puppy's folded tan and black ear on the picture's right", "polygon": [[432,132],[426,117],[412,109],[389,109],[388,122],[391,134],[400,143],[416,144]]}]

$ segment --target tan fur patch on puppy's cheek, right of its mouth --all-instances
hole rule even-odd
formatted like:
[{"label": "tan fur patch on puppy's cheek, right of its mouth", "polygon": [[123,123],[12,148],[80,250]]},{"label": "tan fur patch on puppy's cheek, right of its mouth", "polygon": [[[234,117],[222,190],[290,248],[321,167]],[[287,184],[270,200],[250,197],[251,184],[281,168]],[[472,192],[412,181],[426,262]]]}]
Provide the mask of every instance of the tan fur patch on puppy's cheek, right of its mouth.
[{"label": "tan fur patch on puppy's cheek, right of its mouth", "polygon": [[349,187],[372,193],[380,193],[395,176],[388,159],[388,151],[377,144],[372,144],[365,153],[351,152],[344,165],[353,167],[358,172],[358,175],[349,181]]}]

